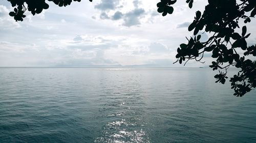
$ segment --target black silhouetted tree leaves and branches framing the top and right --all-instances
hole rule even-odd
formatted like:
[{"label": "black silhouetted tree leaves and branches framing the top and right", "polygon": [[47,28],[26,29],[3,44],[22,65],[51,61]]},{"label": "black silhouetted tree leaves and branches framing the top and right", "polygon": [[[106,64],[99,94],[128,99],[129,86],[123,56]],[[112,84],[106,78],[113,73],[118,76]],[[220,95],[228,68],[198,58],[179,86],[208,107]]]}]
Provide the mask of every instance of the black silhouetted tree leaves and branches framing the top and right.
[{"label": "black silhouetted tree leaves and branches framing the top and right", "polygon": [[[7,0],[14,7],[14,11],[9,15],[16,21],[23,21],[25,11],[30,11],[33,15],[41,13],[43,9],[48,9],[49,5],[45,0]],[[48,0],[62,7],[68,6],[72,0]],[[81,0],[73,0],[80,2]],[[92,2],[92,0],[89,0]],[[157,11],[162,16],[172,14],[177,0],[161,0],[157,4]],[[25,5],[26,3],[26,5]],[[188,7],[192,8],[194,0],[186,0]],[[195,20],[188,26],[188,31],[194,32],[194,37],[187,38],[187,43],[180,44],[177,49],[177,62],[185,64],[189,60],[201,62],[204,53],[211,52],[212,58],[216,59],[209,67],[213,70],[219,69],[219,74],[214,77],[216,82],[225,83],[228,78],[227,71],[231,67],[239,68],[238,74],[230,78],[231,89],[234,96],[244,96],[256,87],[256,61],[252,62],[247,57],[256,56],[256,45],[248,46],[246,39],[247,27],[242,26],[242,33],[236,32],[240,28],[239,24],[248,23],[256,15],[255,0],[208,0],[208,5],[202,12],[197,11]],[[242,22],[241,22],[242,21]],[[209,33],[211,36],[206,42],[200,42],[199,32]],[[237,51],[242,49],[244,55]],[[202,62],[201,62],[202,63]],[[185,65],[184,64],[184,65]]]}]

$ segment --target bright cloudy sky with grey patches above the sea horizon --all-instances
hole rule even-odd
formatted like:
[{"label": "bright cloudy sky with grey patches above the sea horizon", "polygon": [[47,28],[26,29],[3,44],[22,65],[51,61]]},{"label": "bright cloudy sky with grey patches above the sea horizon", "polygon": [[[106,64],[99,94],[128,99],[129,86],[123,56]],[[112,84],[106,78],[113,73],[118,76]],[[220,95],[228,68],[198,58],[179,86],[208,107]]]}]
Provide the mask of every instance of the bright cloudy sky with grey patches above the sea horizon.
[{"label": "bright cloudy sky with grey patches above the sea horizon", "polygon": [[[178,1],[174,13],[164,17],[157,12],[158,2],[83,0],[58,7],[47,1],[49,9],[35,16],[26,12],[24,21],[16,22],[8,15],[10,3],[0,0],[0,67],[184,67],[173,64],[177,48],[193,35],[187,27],[207,1],[195,1],[192,9]],[[248,44],[255,44],[255,20],[247,26]],[[205,64],[189,61],[185,67],[211,61],[205,54]]]}]

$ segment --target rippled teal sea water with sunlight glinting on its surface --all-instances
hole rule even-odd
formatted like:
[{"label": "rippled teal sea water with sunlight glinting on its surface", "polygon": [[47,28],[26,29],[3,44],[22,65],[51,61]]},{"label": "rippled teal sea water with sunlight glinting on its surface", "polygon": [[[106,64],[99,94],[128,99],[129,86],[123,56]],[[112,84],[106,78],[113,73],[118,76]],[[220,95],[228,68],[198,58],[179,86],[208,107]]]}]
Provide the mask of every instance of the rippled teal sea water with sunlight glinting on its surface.
[{"label": "rippled teal sea water with sunlight glinting on its surface", "polygon": [[255,90],[234,97],[230,83],[213,76],[0,68],[0,142],[256,142]]}]

